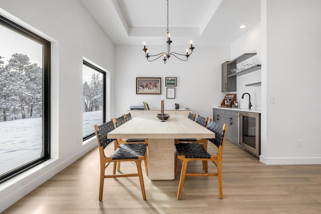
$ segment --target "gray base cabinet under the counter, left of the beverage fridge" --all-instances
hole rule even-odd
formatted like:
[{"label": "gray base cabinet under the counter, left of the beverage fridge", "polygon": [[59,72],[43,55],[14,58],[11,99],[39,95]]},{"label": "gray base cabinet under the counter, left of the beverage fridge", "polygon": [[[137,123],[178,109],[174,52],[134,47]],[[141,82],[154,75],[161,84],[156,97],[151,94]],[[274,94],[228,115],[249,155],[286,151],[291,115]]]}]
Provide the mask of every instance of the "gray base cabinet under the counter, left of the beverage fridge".
[{"label": "gray base cabinet under the counter, left of the beverage fridge", "polygon": [[238,111],[213,108],[213,120],[217,123],[228,125],[226,139],[238,144]]}]

